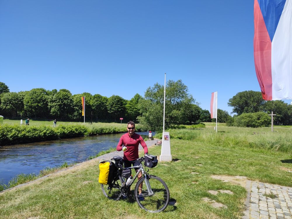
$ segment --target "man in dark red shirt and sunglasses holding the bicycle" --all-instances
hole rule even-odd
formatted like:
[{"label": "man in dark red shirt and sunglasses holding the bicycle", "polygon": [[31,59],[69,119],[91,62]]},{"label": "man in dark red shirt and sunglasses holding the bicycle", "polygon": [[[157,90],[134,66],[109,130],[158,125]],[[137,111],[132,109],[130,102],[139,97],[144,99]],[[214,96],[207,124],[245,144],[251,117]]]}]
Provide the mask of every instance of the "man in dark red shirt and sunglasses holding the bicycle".
[{"label": "man in dark red shirt and sunglasses holding the bicycle", "polygon": [[[133,121],[128,122],[127,126],[128,133],[122,135],[117,145],[117,151],[124,151],[124,167],[130,167],[140,165],[140,162],[137,161],[139,158],[139,143],[142,145],[144,149],[144,154],[148,154],[148,148],[146,143],[144,142],[141,135],[135,133],[135,123]],[[138,172],[138,170],[136,170]],[[138,180],[142,177],[142,173],[139,173]],[[142,192],[142,184],[139,187],[139,200],[143,201],[144,197],[141,195]]]}]

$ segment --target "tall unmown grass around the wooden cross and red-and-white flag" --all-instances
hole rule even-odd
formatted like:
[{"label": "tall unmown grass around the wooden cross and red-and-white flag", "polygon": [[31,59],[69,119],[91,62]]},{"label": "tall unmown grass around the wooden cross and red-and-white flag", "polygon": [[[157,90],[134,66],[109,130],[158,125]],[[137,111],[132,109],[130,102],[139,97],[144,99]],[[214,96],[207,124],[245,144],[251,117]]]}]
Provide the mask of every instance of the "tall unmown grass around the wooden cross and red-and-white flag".
[{"label": "tall unmown grass around the wooden cross and red-and-white flag", "polygon": [[[268,149],[292,153],[292,128],[275,127],[274,132],[270,128],[240,128],[221,126],[216,133],[211,128],[201,129],[170,129],[172,139],[195,140],[221,147],[239,147]],[[157,138],[162,133],[157,133]]]}]

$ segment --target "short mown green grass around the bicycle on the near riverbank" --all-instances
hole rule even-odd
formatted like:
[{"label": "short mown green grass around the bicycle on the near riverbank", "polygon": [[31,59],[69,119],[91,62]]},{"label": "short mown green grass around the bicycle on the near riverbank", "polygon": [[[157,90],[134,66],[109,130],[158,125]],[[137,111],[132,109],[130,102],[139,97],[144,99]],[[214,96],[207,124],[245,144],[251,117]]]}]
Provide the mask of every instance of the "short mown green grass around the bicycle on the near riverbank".
[{"label": "short mown green grass around the bicycle on the near riverbank", "polygon": [[[234,127],[219,129],[219,135],[240,135],[244,129]],[[229,129],[228,129],[229,128]],[[275,128],[276,129],[276,128]],[[249,139],[253,129],[246,129]],[[256,129],[255,136],[267,133],[268,129]],[[189,140],[171,140],[171,154],[175,161],[159,162],[150,174],[161,177],[169,187],[171,201],[162,213],[151,214],[130,200],[112,201],[106,199],[98,183],[98,162],[75,168],[69,173],[58,174],[15,190],[0,193],[0,218],[241,218],[244,210],[246,190],[239,185],[224,183],[211,175],[246,176],[251,180],[292,186],[292,155],[276,149],[236,146],[228,142],[218,144],[211,128],[202,130],[176,130],[173,134],[183,135]],[[202,132],[200,135],[198,132]],[[291,133],[290,128],[270,133]],[[257,134],[261,133],[261,134]],[[203,138],[202,136],[207,136]],[[193,137],[195,136],[195,137]],[[199,137],[198,137],[199,136]],[[200,137],[201,136],[201,137]],[[286,136],[286,135],[283,135]],[[220,137],[219,139],[221,139]],[[202,142],[208,139],[210,142]],[[227,141],[227,136],[223,138]],[[265,136],[259,138],[264,140]],[[205,140],[204,140],[205,141]],[[215,144],[213,144],[213,143]],[[244,143],[242,143],[244,144]],[[240,144],[239,144],[240,145]],[[151,147],[150,154],[159,155],[160,146]],[[198,166],[200,164],[200,166]],[[198,173],[198,174],[196,174]],[[132,188],[133,189],[133,188]],[[234,194],[212,195],[208,190],[230,190]],[[213,208],[202,198],[208,197],[227,206]]]}]

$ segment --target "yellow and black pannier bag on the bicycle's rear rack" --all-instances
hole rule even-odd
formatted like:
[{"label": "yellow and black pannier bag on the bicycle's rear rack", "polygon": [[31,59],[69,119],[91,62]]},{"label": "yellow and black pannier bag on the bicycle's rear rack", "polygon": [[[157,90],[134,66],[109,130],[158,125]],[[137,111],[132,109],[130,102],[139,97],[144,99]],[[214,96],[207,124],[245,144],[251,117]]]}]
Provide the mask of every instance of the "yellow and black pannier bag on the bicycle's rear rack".
[{"label": "yellow and black pannier bag on the bicycle's rear rack", "polygon": [[101,184],[109,184],[114,178],[116,167],[112,161],[104,161],[99,164],[98,182]]}]

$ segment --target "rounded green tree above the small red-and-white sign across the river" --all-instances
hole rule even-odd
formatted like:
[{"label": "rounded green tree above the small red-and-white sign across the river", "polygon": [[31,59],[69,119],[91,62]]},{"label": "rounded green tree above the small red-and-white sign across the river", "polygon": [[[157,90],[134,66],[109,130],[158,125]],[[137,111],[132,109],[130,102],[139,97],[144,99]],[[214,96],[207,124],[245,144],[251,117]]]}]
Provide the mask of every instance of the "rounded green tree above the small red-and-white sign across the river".
[{"label": "rounded green tree above the small red-and-white sign across the river", "polygon": [[126,113],[126,100],[118,95],[112,95],[107,100],[107,112],[114,121],[117,118],[124,117]]}]

